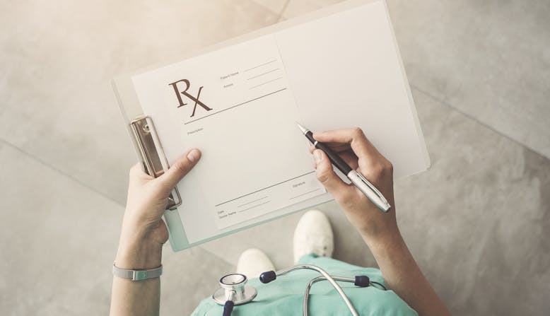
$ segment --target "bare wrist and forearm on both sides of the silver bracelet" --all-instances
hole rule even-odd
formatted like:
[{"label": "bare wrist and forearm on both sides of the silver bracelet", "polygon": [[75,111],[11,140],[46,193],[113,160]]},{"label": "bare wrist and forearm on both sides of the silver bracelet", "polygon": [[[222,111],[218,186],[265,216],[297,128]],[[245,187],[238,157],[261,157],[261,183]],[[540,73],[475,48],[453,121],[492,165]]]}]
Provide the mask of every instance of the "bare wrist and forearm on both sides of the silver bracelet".
[{"label": "bare wrist and forearm on both sides of the silver bracelet", "polygon": [[[116,265],[122,269],[154,269],[160,267],[162,245],[127,245],[121,242]],[[131,281],[113,277],[111,316],[158,315],[160,278]]]}]

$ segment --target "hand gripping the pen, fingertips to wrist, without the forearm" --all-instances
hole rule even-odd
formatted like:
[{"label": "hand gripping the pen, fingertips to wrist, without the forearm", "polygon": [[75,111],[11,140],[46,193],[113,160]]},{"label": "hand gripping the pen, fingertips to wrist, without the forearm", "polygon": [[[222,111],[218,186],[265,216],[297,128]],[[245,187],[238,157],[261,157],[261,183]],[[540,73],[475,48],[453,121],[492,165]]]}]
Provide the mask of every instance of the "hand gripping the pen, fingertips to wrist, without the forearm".
[{"label": "hand gripping the pen, fingertips to wrist, without the forearm", "polygon": [[370,144],[359,128],[316,132],[313,138],[338,153],[351,168],[379,189],[392,206],[387,213],[380,211],[357,187],[340,179],[322,150],[310,147],[315,158],[317,179],[344,209],[347,218],[365,241],[377,242],[380,238],[391,238],[396,233],[399,235],[395,219],[392,163]]}]

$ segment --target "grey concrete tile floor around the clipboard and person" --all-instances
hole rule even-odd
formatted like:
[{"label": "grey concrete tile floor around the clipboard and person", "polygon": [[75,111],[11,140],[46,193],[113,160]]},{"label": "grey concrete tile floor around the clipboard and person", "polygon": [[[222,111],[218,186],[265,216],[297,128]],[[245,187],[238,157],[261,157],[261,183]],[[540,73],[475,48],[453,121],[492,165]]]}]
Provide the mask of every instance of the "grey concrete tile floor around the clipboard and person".
[{"label": "grey concrete tile floor around the clipboard and person", "polygon": [[[0,1],[0,315],[108,312],[135,161],[110,78],[337,1]],[[388,5],[432,160],[395,185],[411,251],[453,315],[547,315],[550,3]],[[374,266],[319,209],[335,257]],[[189,314],[247,247],[291,264],[299,217],[166,247],[161,313]]]}]

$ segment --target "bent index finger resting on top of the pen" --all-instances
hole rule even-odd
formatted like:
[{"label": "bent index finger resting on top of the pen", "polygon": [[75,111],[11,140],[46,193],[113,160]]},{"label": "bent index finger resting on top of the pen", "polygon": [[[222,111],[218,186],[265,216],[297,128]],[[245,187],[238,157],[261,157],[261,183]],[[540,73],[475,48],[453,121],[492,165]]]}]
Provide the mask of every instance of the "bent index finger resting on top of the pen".
[{"label": "bent index finger resting on top of the pen", "polygon": [[322,143],[350,144],[351,149],[358,157],[363,156],[368,160],[374,160],[379,155],[378,150],[373,144],[370,144],[363,131],[358,127],[317,132],[313,134],[313,138]]}]

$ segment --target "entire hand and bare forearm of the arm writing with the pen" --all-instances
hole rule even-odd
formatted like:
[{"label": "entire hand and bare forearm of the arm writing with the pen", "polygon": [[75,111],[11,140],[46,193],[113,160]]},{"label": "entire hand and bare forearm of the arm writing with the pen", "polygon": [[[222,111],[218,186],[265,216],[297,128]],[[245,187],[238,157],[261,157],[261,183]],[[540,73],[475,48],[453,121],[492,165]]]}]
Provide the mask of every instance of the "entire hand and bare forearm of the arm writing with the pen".
[{"label": "entire hand and bare forearm of the arm writing with the pen", "polygon": [[367,243],[387,285],[418,315],[450,315],[414,261],[395,221],[393,168],[365,137],[361,129],[338,129],[313,133],[313,138],[339,153],[351,168],[377,187],[392,208],[384,213],[354,185],[346,185],[332,170],[327,155],[310,148],[315,157],[317,179],[344,209],[349,221]]}]

